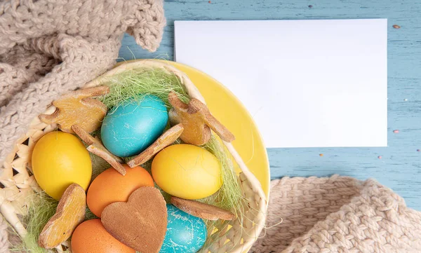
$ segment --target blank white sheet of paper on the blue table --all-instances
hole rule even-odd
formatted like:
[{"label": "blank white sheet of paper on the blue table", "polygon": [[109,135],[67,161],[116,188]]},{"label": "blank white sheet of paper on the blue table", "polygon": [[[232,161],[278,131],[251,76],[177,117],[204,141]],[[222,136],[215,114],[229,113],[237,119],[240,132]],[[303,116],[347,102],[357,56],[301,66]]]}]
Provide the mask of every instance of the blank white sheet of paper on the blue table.
[{"label": "blank white sheet of paper on the blue table", "polygon": [[232,90],[267,147],[387,146],[387,20],[176,21],[175,60]]}]

